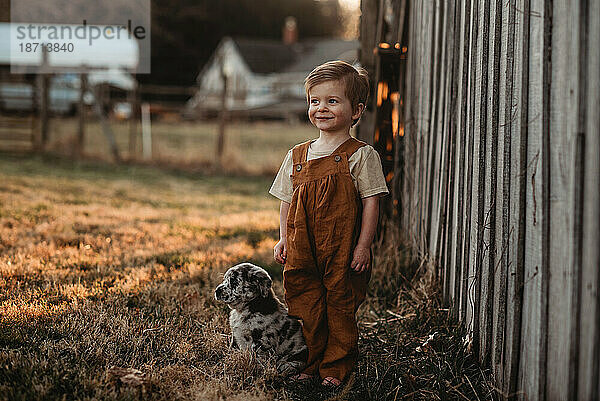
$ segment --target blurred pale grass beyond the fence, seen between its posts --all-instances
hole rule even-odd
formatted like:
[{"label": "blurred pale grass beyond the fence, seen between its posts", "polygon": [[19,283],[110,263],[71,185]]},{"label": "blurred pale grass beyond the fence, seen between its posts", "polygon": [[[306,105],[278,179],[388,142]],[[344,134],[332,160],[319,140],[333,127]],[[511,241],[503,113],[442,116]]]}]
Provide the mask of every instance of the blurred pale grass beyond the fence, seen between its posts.
[{"label": "blurred pale grass beyond the fence, seen between its posts", "polygon": [[[129,123],[111,121],[116,142],[123,158],[130,158]],[[74,148],[78,121],[74,118],[54,117],[50,123],[48,149],[70,154]],[[141,127],[137,125],[137,154],[141,159]],[[200,167],[204,170],[217,160],[217,122],[153,121],[153,160],[163,165],[183,168]],[[220,168],[226,172],[271,174],[277,172],[283,156],[295,144],[319,136],[310,123],[288,124],[277,121],[232,121],[225,130],[224,159]],[[87,156],[110,160],[111,153],[99,123],[86,124],[84,152]]]}]

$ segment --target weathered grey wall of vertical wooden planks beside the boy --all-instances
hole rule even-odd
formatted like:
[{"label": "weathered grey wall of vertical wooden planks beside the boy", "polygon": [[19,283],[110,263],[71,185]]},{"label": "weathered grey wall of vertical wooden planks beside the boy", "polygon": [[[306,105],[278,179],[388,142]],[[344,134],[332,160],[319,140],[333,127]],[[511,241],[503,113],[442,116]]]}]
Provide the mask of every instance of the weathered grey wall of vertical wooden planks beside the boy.
[{"label": "weathered grey wall of vertical wooden planks beside the boy", "polygon": [[600,0],[408,3],[400,229],[505,397],[598,400]]}]

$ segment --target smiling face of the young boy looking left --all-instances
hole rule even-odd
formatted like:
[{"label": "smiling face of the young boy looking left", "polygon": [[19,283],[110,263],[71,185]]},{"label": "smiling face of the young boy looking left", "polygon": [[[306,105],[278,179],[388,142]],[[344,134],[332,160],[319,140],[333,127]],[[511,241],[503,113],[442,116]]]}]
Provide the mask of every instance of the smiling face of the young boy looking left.
[{"label": "smiling face of the young boy looking left", "polygon": [[360,103],[353,113],[350,99],[344,93],[342,81],[325,81],[309,90],[308,118],[321,131],[337,133],[348,131],[352,120],[360,117],[364,105]]}]

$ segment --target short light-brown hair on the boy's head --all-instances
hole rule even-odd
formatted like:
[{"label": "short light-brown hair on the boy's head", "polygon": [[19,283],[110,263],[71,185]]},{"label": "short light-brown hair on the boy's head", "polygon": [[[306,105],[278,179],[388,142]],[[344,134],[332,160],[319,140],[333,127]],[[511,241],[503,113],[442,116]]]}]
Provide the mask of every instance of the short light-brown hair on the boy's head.
[{"label": "short light-brown hair on the boy's head", "polygon": [[[345,61],[335,60],[323,63],[308,74],[304,79],[304,90],[306,91],[306,101],[309,101],[308,92],[318,84],[326,81],[341,81],[344,85],[344,93],[350,100],[352,111],[356,110],[359,103],[367,106],[369,98],[369,75],[367,70],[362,67],[355,68]],[[352,126],[358,122],[353,120]]]}]

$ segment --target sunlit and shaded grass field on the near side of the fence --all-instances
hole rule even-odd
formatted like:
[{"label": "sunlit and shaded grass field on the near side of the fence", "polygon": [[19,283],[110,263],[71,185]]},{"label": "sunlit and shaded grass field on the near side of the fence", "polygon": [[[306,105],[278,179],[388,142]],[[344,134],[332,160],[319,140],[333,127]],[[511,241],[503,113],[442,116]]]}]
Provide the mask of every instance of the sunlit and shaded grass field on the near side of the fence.
[{"label": "sunlit and shaded grass field on the near side of the fence", "polygon": [[259,264],[282,296],[271,179],[0,155],[0,400],[493,398],[400,239],[376,249],[341,393],[229,351],[226,269]]}]

